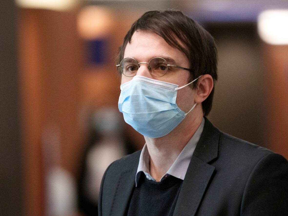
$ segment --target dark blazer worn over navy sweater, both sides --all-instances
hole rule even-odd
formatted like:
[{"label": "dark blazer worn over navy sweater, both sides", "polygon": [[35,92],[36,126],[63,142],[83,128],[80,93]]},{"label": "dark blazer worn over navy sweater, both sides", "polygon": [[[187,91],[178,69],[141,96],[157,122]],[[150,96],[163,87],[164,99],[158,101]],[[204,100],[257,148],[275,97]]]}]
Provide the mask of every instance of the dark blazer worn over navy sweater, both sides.
[{"label": "dark blazer worn over navy sweater, both sides", "polygon": [[[127,214],[140,153],[107,168],[99,216]],[[174,215],[287,216],[288,162],[268,149],[220,132],[205,119]]]}]

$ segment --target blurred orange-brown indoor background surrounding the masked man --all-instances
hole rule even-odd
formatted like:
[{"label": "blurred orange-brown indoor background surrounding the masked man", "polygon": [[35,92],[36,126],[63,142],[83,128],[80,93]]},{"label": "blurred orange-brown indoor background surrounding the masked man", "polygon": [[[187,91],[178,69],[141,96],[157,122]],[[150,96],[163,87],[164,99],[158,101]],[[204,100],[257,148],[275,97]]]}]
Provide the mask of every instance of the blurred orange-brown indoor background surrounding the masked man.
[{"label": "blurred orange-brown indoor background surrounding the masked man", "polygon": [[0,3],[1,215],[96,215],[106,167],[141,149],[118,111],[115,58],[148,10],[180,9],[215,38],[209,120],[288,159],[288,2]]}]

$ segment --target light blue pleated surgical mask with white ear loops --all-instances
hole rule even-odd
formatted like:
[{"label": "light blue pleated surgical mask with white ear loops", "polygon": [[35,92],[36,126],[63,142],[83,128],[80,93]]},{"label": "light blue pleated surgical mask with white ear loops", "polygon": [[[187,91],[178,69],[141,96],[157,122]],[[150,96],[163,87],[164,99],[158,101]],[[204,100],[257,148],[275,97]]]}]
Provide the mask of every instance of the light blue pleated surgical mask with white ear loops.
[{"label": "light blue pleated surgical mask with white ear loops", "polygon": [[123,113],[125,122],[142,135],[163,137],[196,106],[195,103],[187,113],[177,106],[177,90],[185,86],[178,87],[176,84],[134,76],[120,86],[118,108]]}]

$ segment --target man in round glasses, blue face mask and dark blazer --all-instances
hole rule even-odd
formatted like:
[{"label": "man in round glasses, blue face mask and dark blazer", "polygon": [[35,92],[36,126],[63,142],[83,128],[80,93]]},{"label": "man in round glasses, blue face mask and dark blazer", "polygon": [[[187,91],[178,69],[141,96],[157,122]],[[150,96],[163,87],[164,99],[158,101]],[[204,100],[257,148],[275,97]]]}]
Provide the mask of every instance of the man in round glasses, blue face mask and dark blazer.
[{"label": "man in round glasses, blue face mask and dark blazer", "polygon": [[287,160],[205,117],[217,50],[199,24],[179,11],[146,12],[117,67],[119,110],[146,143],[107,168],[99,215],[288,215]]}]

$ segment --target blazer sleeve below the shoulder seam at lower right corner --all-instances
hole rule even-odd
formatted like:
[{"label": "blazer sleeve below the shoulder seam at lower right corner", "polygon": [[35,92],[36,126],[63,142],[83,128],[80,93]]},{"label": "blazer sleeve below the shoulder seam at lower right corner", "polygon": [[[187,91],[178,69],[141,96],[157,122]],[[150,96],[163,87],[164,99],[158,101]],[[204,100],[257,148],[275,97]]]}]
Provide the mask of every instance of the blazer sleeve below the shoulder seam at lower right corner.
[{"label": "blazer sleeve below the shoulder seam at lower right corner", "polygon": [[264,156],[251,172],[241,216],[288,215],[288,162],[276,153]]}]

